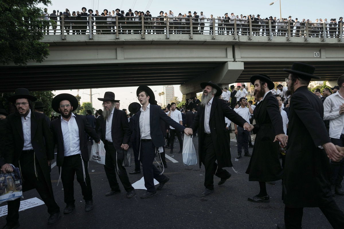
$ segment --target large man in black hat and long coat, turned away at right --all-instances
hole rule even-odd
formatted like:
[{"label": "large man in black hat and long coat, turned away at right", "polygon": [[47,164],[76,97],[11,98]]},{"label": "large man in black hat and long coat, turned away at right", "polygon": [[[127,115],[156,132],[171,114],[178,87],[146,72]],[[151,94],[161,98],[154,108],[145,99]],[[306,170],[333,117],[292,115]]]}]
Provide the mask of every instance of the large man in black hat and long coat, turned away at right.
[{"label": "large man in black hat and long coat, turned away at right", "polygon": [[327,134],[322,102],[307,89],[311,79],[320,77],[313,75],[315,67],[298,62],[283,70],[289,73],[288,91],[292,96],[283,175],[285,227],[278,228],[301,228],[304,207],[319,207],[333,228],[343,228],[344,214],[331,193],[329,158],[340,161],[344,155]]}]

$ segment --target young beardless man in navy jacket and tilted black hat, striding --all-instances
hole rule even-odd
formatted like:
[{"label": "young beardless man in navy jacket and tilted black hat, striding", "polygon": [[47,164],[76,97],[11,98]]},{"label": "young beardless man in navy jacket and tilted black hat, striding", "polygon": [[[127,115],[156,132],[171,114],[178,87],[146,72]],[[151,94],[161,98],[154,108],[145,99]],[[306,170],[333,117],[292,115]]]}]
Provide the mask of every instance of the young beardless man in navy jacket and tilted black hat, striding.
[{"label": "young beardless man in navy jacket and tilted black hat, striding", "polygon": [[[165,140],[162,135],[161,125],[159,120],[168,123],[173,128],[184,131],[185,134],[192,134],[192,129],[185,128],[179,123],[173,121],[156,105],[155,95],[152,89],[146,85],[141,85],[136,90],[138,100],[142,107],[137,113],[137,122],[132,133],[131,142],[136,144],[137,149],[140,149],[140,161],[142,163],[144,186],[147,192],[141,198],[148,198],[157,194],[157,190],[161,190],[166,182],[170,180],[168,176],[160,173],[153,165],[155,154],[163,152]],[[157,189],[154,187],[153,179],[160,184]]]}]

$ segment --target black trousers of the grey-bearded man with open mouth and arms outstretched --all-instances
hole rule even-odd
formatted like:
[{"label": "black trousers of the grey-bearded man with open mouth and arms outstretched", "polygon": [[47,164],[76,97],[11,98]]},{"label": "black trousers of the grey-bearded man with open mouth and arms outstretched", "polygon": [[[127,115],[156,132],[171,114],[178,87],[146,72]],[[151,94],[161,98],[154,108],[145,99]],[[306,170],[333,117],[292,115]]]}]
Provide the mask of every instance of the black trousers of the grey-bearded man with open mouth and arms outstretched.
[{"label": "black trousers of the grey-bearded man with open mouth and arms outstretched", "polygon": [[227,170],[218,168],[215,154],[215,147],[211,136],[205,136],[201,149],[201,161],[205,168],[204,186],[210,190],[214,189],[214,175],[219,178],[226,178],[229,175]]}]

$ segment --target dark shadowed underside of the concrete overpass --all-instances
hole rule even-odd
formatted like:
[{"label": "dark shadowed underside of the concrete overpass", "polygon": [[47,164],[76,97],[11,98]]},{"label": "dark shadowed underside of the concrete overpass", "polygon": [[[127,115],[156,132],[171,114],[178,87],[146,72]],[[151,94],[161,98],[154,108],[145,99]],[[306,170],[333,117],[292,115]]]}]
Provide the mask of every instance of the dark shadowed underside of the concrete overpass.
[{"label": "dark shadowed underside of the concrete overpass", "polygon": [[[30,91],[85,88],[130,87],[146,85],[179,85],[196,79],[225,62],[170,62],[147,64],[97,64],[0,67],[0,92],[13,92],[24,87]],[[336,80],[344,74],[341,61],[307,62],[316,67],[314,75],[321,80]],[[284,81],[292,62],[244,62],[244,70],[235,82],[249,82],[250,76],[265,73],[275,82]],[[209,76],[209,80],[211,76]],[[228,82],[234,83],[234,82]]]}]

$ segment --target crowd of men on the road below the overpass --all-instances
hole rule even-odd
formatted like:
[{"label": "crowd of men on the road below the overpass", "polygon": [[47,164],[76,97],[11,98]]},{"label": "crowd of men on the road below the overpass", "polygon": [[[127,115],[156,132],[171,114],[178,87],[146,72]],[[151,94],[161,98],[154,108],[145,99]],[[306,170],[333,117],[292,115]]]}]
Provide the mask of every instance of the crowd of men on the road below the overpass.
[{"label": "crowd of men on the road below the overpass", "polygon": [[[248,179],[259,183],[259,193],[248,197],[248,201],[270,202],[266,183],[282,180],[284,224],[278,228],[301,228],[303,207],[319,207],[333,228],[343,228],[344,214],[333,196],[344,195],[344,75],[338,78],[333,93],[324,89],[321,95],[307,89],[311,79],[320,79],[313,75],[313,66],[294,63],[291,69],[283,70],[289,73],[288,87],[278,85],[278,90],[265,74],[250,78],[255,87],[255,105],[252,101],[247,103],[244,84],[231,86],[230,92],[209,81],[200,85],[201,100],[192,97],[181,109],[174,103],[162,109],[154,92],[141,85],[136,91],[139,103],[129,105],[129,116],[126,109],[119,109],[120,101],[114,92],[105,92],[104,98],[98,98],[103,101],[103,110],[97,110],[96,117],[92,111],[87,111],[87,116],[74,114],[78,101],[64,93],[53,98],[51,106],[61,115],[51,122],[42,114],[41,102],[34,105],[37,99],[27,89],[16,89],[8,99],[15,105],[15,112],[8,114],[0,109],[1,170],[12,172],[10,164],[19,167],[23,191],[37,190],[50,214],[48,224],[53,224],[60,217],[50,179],[56,145],[56,165],[66,203],[63,213],[68,214],[75,208],[75,174],[85,199],[85,211],[93,209],[87,136],[97,144],[104,143],[104,170],[111,188],[105,196],[120,193],[117,175],[126,197],[135,196],[123,166],[125,151],[132,148],[135,170],[129,174],[141,173],[142,164],[147,191],[141,198],[148,198],[157,195],[157,190],[170,180],[163,174],[168,168],[165,149],[174,153],[174,135],[178,136],[182,153],[180,133],[197,133],[199,166],[205,167],[205,190],[201,196],[208,196],[214,192],[214,175],[220,178],[218,185],[231,177],[224,168],[233,167],[229,150],[233,122],[237,159],[244,147],[244,156],[250,157]],[[256,134],[252,154],[248,153],[250,131]],[[161,161],[158,166],[153,164],[156,155]],[[159,182],[158,187],[153,179]],[[7,224],[3,228],[20,226],[19,204],[20,199],[8,201]]]}]

